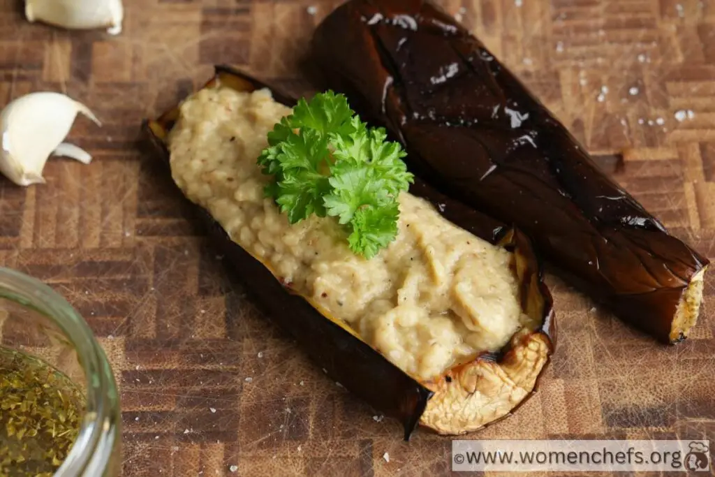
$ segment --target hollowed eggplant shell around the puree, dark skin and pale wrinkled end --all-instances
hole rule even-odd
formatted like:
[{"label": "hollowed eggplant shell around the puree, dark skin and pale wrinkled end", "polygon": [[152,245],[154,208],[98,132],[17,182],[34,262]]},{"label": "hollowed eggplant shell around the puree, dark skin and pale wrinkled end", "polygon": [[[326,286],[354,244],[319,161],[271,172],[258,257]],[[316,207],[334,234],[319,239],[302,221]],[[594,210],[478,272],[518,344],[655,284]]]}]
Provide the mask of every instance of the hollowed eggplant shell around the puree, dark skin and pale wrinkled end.
[{"label": "hollowed eggplant shell around the puree, dark skin and pale wrinkled end", "polygon": [[[216,67],[204,87],[231,87],[252,91],[267,87],[230,67]],[[269,88],[273,97],[292,106],[295,99]],[[165,141],[178,118],[178,108],[159,119],[145,121],[143,129],[159,157],[164,172],[169,165]],[[178,187],[177,187],[178,189]],[[543,283],[541,265],[531,242],[522,232],[491,217],[470,210],[417,180],[415,195],[439,205],[448,219],[463,217],[464,227],[484,240],[506,247],[514,254],[513,267],[520,283],[521,307],[535,329],[523,328],[500,353],[485,353],[469,363],[450,368],[439,380],[420,383],[390,363],[361,340],[347,325],[322,315],[310,300],[286,287],[262,262],[230,240],[225,230],[202,207],[194,205],[225,262],[244,283],[263,311],[287,330],[331,378],[374,408],[403,423],[405,440],[418,423],[443,434],[475,431],[513,412],[536,390],[538,378],[553,353],[556,323],[553,301]]]}]

